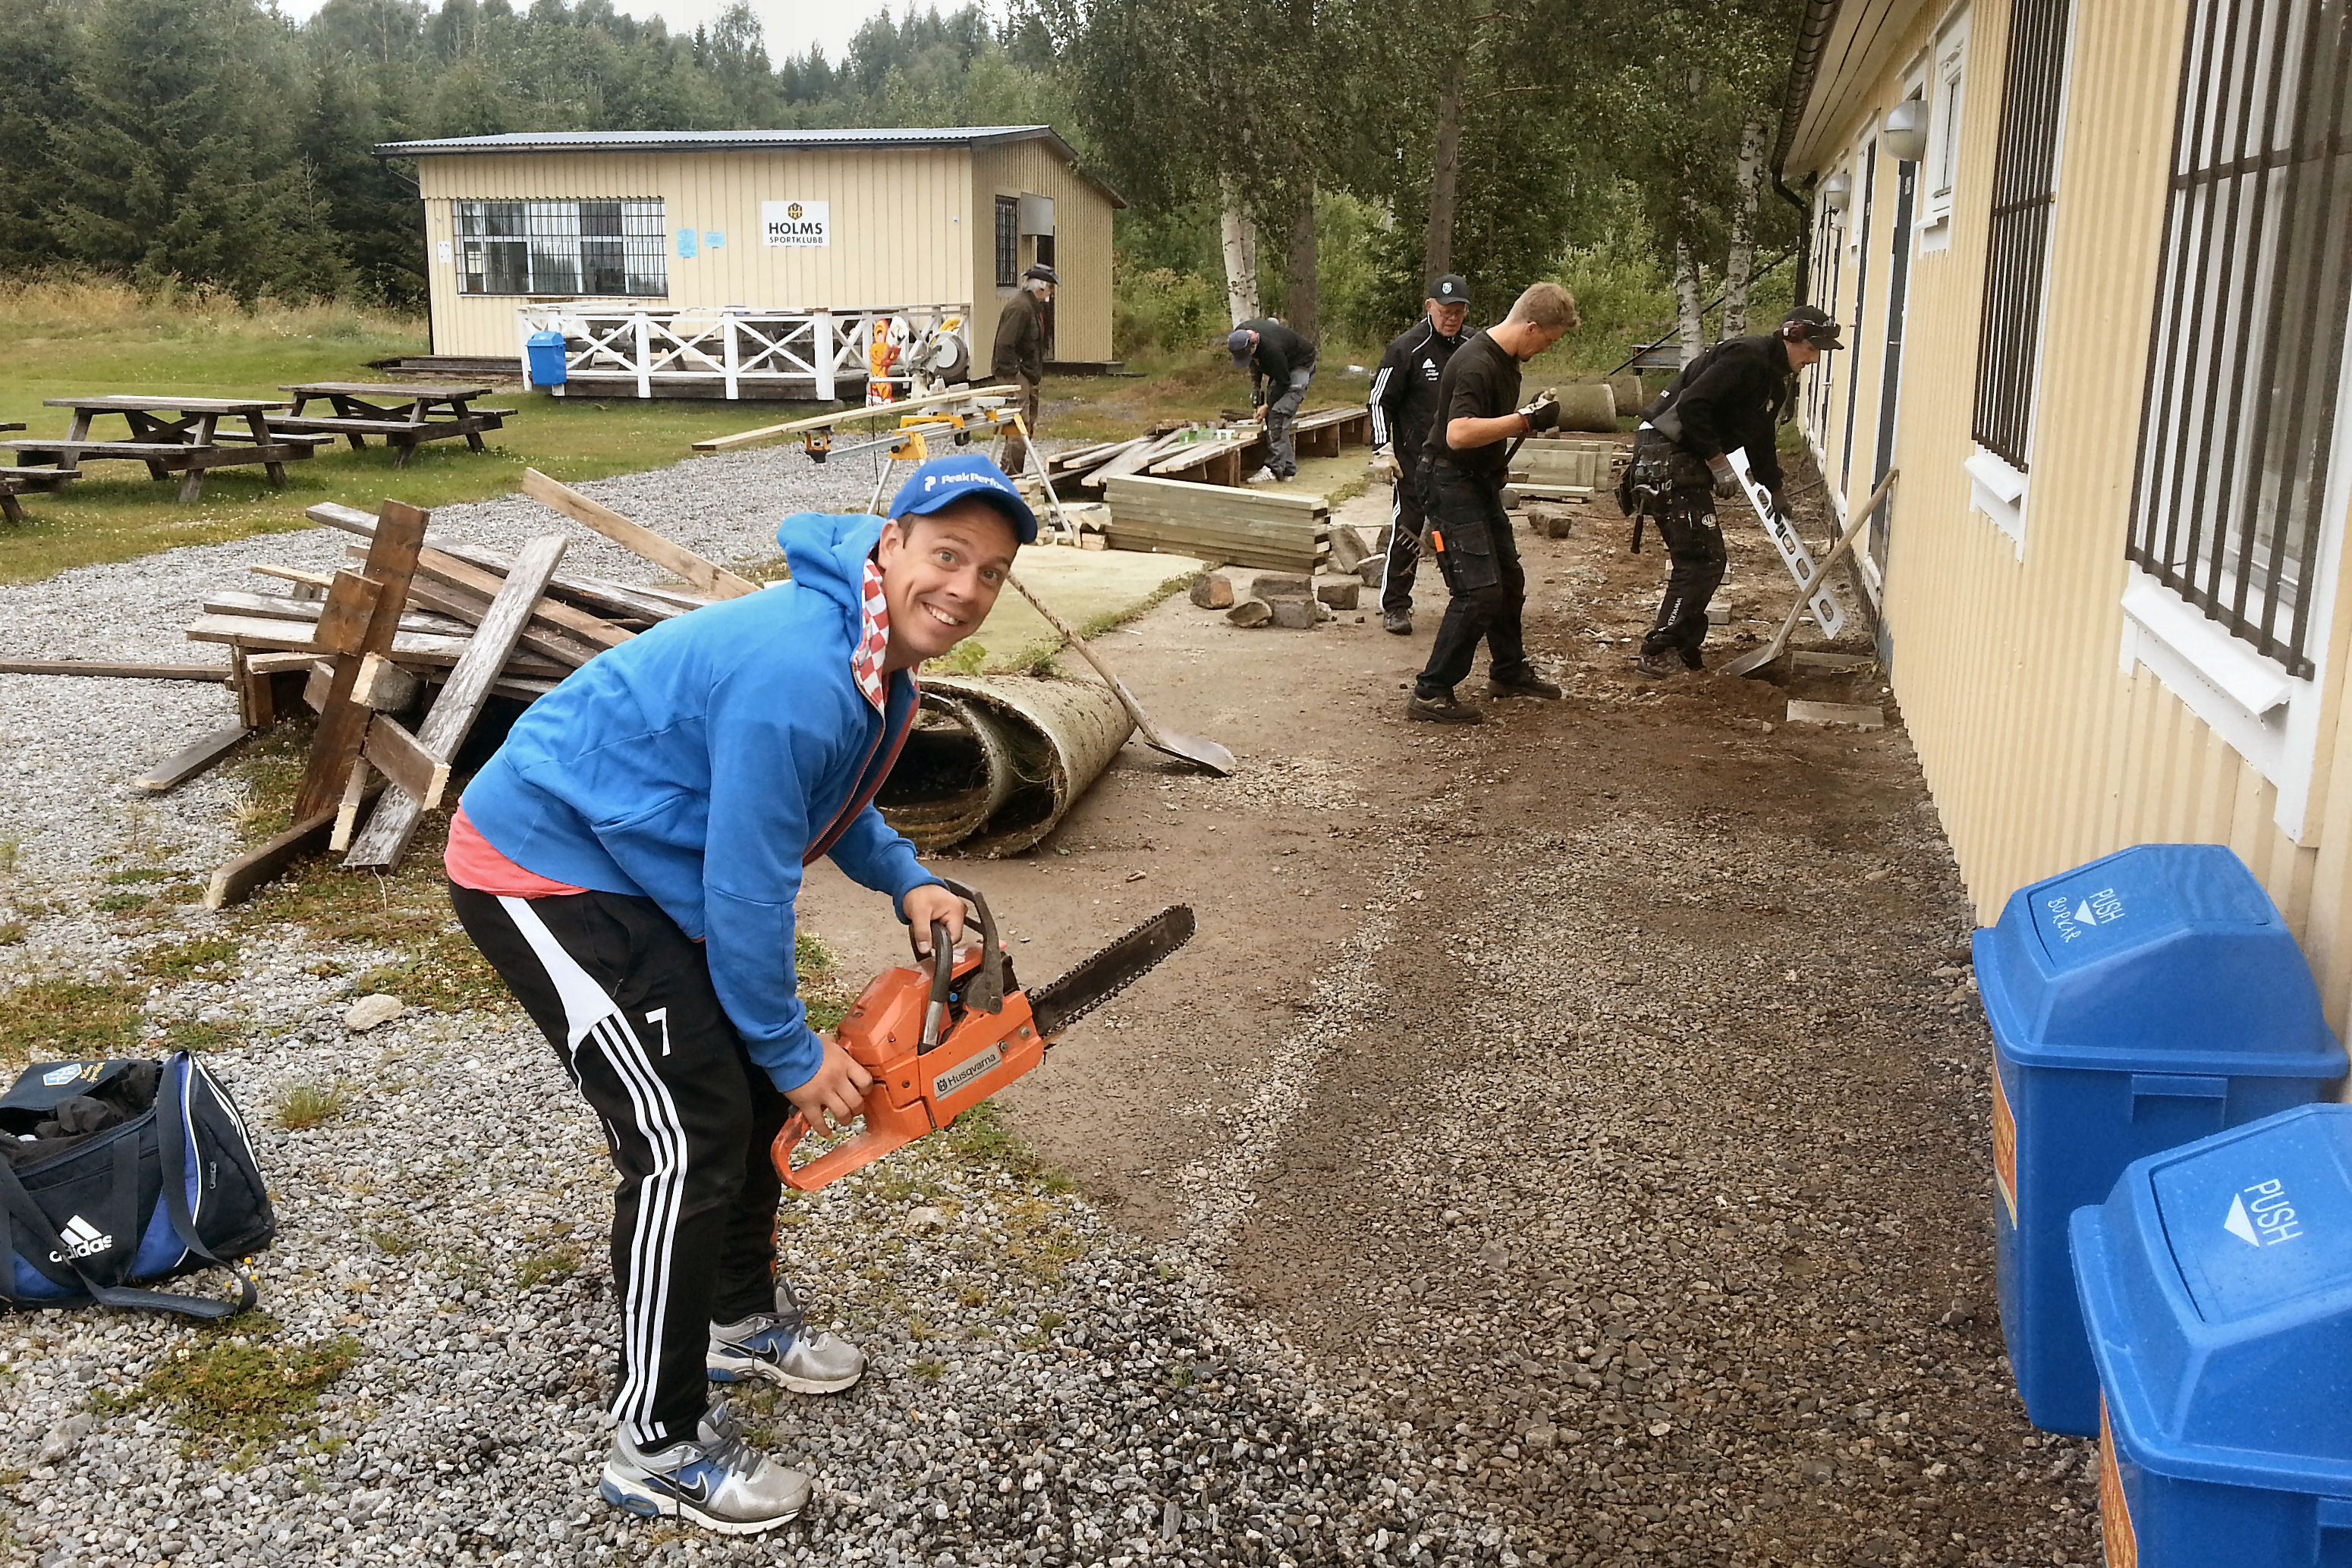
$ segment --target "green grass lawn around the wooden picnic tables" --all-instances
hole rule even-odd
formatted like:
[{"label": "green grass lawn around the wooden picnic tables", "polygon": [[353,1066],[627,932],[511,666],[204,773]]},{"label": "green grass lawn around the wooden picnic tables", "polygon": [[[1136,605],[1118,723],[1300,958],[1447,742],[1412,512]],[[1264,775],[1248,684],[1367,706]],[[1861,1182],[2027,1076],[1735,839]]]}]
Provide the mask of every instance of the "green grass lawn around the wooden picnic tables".
[{"label": "green grass lawn around the wooden picnic tables", "polygon": [[[0,289],[0,353],[9,360],[0,421],[26,425],[12,437],[66,433],[71,411],[45,407],[47,397],[280,397],[278,386],[294,381],[386,381],[383,371],[367,369],[369,360],[426,350],[421,322],[334,306],[247,315],[136,308],[127,292],[120,301],[101,292],[103,308],[89,308],[87,299],[59,301],[56,294]],[[228,468],[205,480],[205,496],[193,505],[176,498],[179,475],[158,484],[139,463],[92,463],[59,494],[26,496],[31,522],[0,527],[0,583],[172,545],[306,529],[301,512],[318,501],[372,508],[390,496],[435,508],[508,494],[524,468],[557,480],[661,468],[689,456],[689,442],[706,435],[793,416],[793,404],[774,402],[583,402],[520,388],[494,393],[485,407],[517,409],[503,430],[485,437],[485,454],[468,451],[461,440],[430,442],[395,470],[388,447],[322,447],[310,461],[287,465],[282,491],[270,489],[259,468]],[[101,418],[92,435],[122,440],[125,430]]]}]

